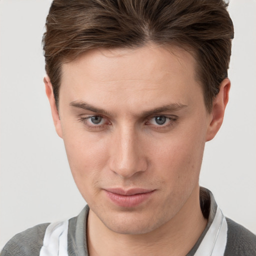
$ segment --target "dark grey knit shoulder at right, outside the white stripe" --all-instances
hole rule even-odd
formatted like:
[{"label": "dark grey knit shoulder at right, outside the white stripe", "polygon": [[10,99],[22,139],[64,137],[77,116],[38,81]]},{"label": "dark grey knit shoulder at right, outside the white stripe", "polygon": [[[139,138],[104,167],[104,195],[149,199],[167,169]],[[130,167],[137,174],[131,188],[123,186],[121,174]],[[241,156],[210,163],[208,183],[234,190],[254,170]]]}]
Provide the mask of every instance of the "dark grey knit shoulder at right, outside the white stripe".
[{"label": "dark grey knit shoulder at right, outside the white stripe", "polygon": [[256,235],[226,218],[227,241],[224,256],[256,256]]}]

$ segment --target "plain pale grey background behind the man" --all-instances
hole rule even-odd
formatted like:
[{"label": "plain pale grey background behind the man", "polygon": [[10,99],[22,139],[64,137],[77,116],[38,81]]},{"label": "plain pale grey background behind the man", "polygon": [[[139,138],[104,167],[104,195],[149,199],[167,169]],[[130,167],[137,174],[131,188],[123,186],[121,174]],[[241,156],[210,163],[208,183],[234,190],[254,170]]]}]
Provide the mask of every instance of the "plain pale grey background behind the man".
[{"label": "plain pale grey background behind the man", "polygon": [[[44,93],[41,36],[50,0],[0,0],[0,248],[15,233],[74,216],[85,202]],[[206,143],[200,184],[256,233],[256,1],[231,0],[230,99]]]}]

